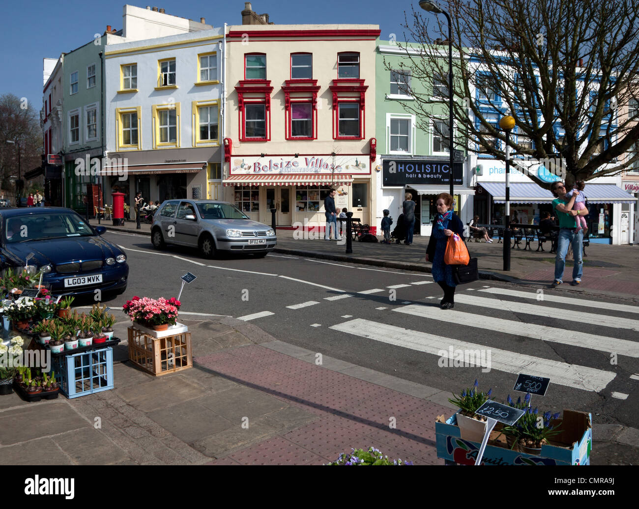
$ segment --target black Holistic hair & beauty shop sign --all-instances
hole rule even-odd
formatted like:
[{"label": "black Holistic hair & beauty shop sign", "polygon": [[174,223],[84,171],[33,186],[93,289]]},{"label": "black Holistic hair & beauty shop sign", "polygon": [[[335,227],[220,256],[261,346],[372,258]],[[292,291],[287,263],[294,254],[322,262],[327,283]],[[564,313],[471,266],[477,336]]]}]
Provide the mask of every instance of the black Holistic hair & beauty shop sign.
[{"label": "black Holistic hair & beauty shop sign", "polygon": [[[455,162],[454,185],[463,185],[463,163]],[[450,163],[433,160],[397,160],[390,159],[382,162],[383,185],[432,185],[450,182]]]}]

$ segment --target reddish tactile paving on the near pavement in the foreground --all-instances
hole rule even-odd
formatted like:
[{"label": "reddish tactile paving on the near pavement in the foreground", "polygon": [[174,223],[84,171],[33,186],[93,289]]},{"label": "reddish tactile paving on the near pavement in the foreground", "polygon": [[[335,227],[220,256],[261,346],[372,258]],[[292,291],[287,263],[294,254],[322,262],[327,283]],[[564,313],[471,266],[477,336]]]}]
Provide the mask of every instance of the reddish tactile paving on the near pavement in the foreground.
[{"label": "reddish tactile paving on the near pavement in the foreground", "polygon": [[390,459],[443,464],[436,457],[435,418],[452,414],[447,407],[258,345],[194,361],[319,417],[212,464],[325,464],[369,446]]}]

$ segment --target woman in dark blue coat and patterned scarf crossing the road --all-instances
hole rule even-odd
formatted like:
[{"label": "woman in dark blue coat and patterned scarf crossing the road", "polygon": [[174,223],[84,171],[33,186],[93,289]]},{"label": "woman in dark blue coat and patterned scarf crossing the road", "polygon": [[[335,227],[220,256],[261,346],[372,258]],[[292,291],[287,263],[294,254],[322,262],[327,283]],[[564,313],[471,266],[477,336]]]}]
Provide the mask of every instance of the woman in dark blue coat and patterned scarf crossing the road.
[{"label": "woman in dark blue coat and patterned scarf crossing the road", "polygon": [[442,309],[455,306],[455,280],[452,276],[452,266],[443,261],[448,238],[456,233],[464,238],[464,225],[461,219],[452,211],[453,197],[448,193],[437,196],[437,214],[433,223],[433,232],[426,248],[426,261],[433,263],[433,280],[443,289]]}]

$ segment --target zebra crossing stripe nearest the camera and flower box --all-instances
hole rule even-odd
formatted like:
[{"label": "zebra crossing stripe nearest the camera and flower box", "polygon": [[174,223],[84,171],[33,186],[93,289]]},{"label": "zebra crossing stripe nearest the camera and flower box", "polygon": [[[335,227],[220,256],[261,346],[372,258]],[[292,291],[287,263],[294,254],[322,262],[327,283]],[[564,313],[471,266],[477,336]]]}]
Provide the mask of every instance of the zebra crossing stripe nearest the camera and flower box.
[{"label": "zebra crossing stripe nearest the camera and flower box", "polygon": [[[450,314],[450,311],[447,313]],[[486,350],[486,346],[483,345],[444,338],[361,318],[337,324],[330,328],[354,336],[433,354],[438,357],[443,356],[443,353],[447,356],[451,346],[454,350]],[[550,377],[553,383],[576,389],[599,392],[606,388],[616,376],[614,372],[567,364],[518,352],[509,352],[497,348],[490,348],[489,351],[491,353],[491,368],[511,374],[535,373],[538,376]],[[436,362],[436,360],[433,360],[435,365]]]}]

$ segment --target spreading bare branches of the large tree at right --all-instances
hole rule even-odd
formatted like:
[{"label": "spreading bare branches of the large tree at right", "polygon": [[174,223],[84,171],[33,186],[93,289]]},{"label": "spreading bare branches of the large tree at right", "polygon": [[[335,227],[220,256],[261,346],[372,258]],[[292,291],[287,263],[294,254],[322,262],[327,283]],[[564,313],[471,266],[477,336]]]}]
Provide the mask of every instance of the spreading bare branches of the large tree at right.
[{"label": "spreading bare branches of the large tree at right", "polygon": [[[618,162],[639,139],[639,123],[619,115],[639,94],[639,0],[446,3],[454,118],[466,131],[455,140],[458,146],[505,160],[498,120],[509,114],[517,134],[509,143],[512,155],[558,159],[569,181],[618,173],[639,159],[633,153]],[[443,16],[414,9],[411,19],[409,24],[406,17],[404,39],[412,44],[397,43],[406,50],[403,72],[412,75],[408,93],[415,97],[403,107],[427,130],[433,118],[441,119],[433,114],[441,93],[432,93],[429,84],[448,74],[448,42],[442,41],[448,26]]]}]

